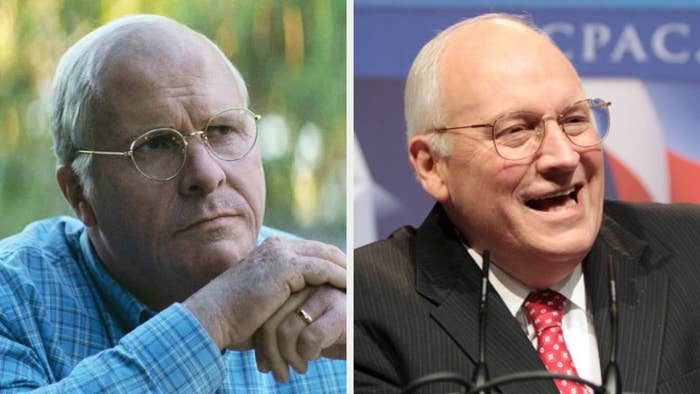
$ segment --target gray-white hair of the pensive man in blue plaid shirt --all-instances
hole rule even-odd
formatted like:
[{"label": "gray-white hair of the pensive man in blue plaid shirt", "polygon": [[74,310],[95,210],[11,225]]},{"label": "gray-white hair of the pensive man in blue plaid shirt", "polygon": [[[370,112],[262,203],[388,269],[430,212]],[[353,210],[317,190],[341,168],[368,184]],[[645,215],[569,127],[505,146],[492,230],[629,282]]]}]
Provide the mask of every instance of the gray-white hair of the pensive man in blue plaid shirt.
[{"label": "gray-white hair of the pensive man in blue plaid shirt", "polygon": [[76,154],[76,150],[93,148],[91,130],[104,96],[99,75],[104,60],[114,49],[109,43],[134,29],[154,24],[175,25],[209,43],[229,66],[236,83],[240,86],[245,105],[248,106],[248,90],[243,77],[221,49],[201,33],[158,15],[131,15],[93,30],[70,47],[58,63],[53,81],[50,120],[58,164],[71,166],[86,196],[92,196],[94,191],[90,171],[92,155]]}]

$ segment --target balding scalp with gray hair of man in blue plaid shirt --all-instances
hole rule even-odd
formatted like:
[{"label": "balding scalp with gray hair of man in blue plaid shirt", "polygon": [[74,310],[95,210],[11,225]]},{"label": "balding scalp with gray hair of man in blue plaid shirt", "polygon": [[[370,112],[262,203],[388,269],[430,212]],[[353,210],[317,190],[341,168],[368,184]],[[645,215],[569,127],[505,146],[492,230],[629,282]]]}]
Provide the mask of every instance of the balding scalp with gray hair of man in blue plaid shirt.
[{"label": "balding scalp with gray hair of man in blue plaid shirt", "polygon": [[94,145],[91,130],[98,128],[98,117],[113,110],[106,105],[114,95],[145,97],[140,94],[164,74],[188,74],[188,67],[202,73],[225,68],[247,105],[243,78],[219,48],[166,17],[133,15],[114,20],[66,51],[54,78],[51,130],[59,164],[73,167],[88,194],[91,156],[76,157],[75,150]]}]

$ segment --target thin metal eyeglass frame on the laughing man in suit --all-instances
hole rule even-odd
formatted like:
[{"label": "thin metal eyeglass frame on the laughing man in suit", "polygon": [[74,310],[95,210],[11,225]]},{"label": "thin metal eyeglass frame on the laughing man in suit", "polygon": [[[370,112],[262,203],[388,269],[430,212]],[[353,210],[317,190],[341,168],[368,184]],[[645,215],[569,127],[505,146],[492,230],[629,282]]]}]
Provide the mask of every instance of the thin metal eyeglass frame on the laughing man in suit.
[{"label": "thin metal eyeglass frame on the laughing man in suit", "polygon": [[[597,108],[603,108],[603,107],[609,108],[609,107],[612,105],[612,102],[611,102],[611,101],[606,101],[606,100],[603,100],[603,99],[601,99],[601,98],[585,98],[585,99],[582,99],[582,100],[575,101],[575,102],[572,103],[571,105],[567,106],[567,107],[564,108],[562,111],[560,111],[560,112],[556,115],[556,117],[554,117],[554,118],[550,117],[550,119],[555,120],[555,121],[557,122],[557,124],[559,125],[559,127],[562,129],[562,131],[564,131],[564,135],[566,135],[566,138],[569,140],[569,142],[571,142],[572,144],[574,144],[575,146],[578,146],[578,147],[580,147],[580,148],[590,148],[590,147],[597,146],[597,145],[600,145],[600,144],[603,143],[603,140],[605,140],[605,138],[608,136],[609,131],[610,131],[610,110],[608,109],[608,113],[607,113],[607,115],[608,115],[608,130],[606,130],[605,135],[603,136],[603,138],[599,138],[599,139],[598,139],[598,142],[596,142],[595,144],[591,144],[591,145],[580,145],[580,144],[574,142],[574,141],[571,139],[571,136],[570,136],[568,133],[566,133],[566,131],[564,130],[564,126],[563,126],[562,123],[561,123],[561,119],[562,119],[562,117],[566,114],[566,112],[567,112],[569,109],[571,109],[571,108],[575,107],[576,105],[578,105],[578,104],[580,104],[580,103],[583,103],[583,102],[589,102],[589,103],[591,103],[593,100],[600,100],[600,101],[601,101],[601,103],[597,106]],[[503,158],[503,159],[505,159],[505,160],[511,160],[511,161],[523,160],[523,159],[527,159],[527,158],[529,158],[529,157],[534,156],[534,155],[537,153],[537,150],[539,150],[540,146],[542,146],[542,141],[544,140],[543,137],[544,137],[544,133],[545,133],[545,130],[544,130],[544,129],[545,129],[545,122],[546,122],[546,120],[547,120],[547,114],[544,114],[544,115],[540,116],[540,121],[541,121],[541,124],[542,124],[542,130],[541,130],[541,131],[540,131],[540,130],[536,130],[536,131],[537,131],[536,134],[533,134],[533,136],[536,136],[536,137],[540,138],[540,143],[539,143],[539,145],[537,146],[537,149],[535,149],[534,152],[532,152],[532,153],[530,153],[530,154],[528,154],[528,155],[526,155],[526,156],[523,156],[523,157],[520,157],[520,158],[517,158],[517,159],[511,159],[511,158],[509,158],[509,157],[503,156],[503,154],[501,154],[501,152],[498,150],[498,145],[496,144],[496,128],[495,128],[495,125],[496,125],[496,123],[497,123],[500,119],[502,119],[502,118],[504,118],[504,117],[506,117],[506,116],[512,115],[512,114],[517,114],[517,113],[527,113],[527,114],[538,115],[538,114],[536,114],[536,113],[534,113],[534,112],[532,112],[532,111],[512,111],[512,112],[507,112],[507,113],[498,115],[498,116],[493,120],[493,122],[491,122],[490,124],[489,124],[489,123],[480,123],[480,124],[473,124],[473,125],[467,125],[467,126],[439,127],[439,128],[435,128],[435,129],[430,130],[430,132],[434,132],[434,133],[446,133],[446,132],[448,132],[448,131],[459,130],[459,129],[475,129],[475,128],[482,128],[482,127],[490,127],[490,128],[491,128],[491,142],[493,143],[493,147],[494,147],[494,149],[496,150],[496,154],[498,154],[498,156],[500,156],[501,158]]]}]

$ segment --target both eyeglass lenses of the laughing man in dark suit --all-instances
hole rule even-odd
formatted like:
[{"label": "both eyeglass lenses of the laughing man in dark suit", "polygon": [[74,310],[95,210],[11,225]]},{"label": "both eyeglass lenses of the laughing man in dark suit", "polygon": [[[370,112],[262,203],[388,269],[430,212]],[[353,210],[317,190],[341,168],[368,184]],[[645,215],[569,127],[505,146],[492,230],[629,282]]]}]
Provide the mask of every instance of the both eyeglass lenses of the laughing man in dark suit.
[{"label": "both eyeglass lenses of the laughing man in dark suit", "polygon": [[[608,132],[608,105],[600,99],[575,103],[557,117],[569,140],[589,147],[599,144]],[[544,138],[542,116],[531,112],[514,112],[496,120],[493,139],[498,154],[506,159],[522,159],[534,154]]]}]

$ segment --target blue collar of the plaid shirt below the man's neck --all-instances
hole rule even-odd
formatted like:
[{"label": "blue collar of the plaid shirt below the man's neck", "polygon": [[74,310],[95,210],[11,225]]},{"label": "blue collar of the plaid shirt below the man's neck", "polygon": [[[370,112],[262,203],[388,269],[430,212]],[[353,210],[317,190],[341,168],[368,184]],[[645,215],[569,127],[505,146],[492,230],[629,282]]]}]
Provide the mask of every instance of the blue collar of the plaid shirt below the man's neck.
[{"label": "blue collar of the plaid shirt below the man's neck", "polygon": [[155,315],[155,312],[144,303],[137,300],[124,289],[104,267],[90,243],[87,229],[80,235],[80,250],[85,258],[86,266],[95,279],[98,291],[107,306],[115,312],[115,316],[126,326],[129,332]]}]

